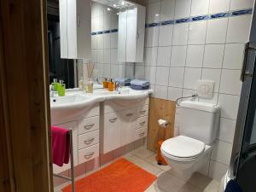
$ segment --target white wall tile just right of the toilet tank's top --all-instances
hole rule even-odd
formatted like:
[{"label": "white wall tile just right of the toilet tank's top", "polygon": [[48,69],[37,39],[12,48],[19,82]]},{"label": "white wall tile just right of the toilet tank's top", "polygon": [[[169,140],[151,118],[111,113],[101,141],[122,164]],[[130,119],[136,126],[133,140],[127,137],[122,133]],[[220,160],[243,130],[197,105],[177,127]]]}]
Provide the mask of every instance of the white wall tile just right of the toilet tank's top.
[{"label": "white wall tile just right of the toilet tank's top", "polygon": [[218,95],[218,105],[221,109],[221,117],[236,119],[240,96],[225,94]]}]

